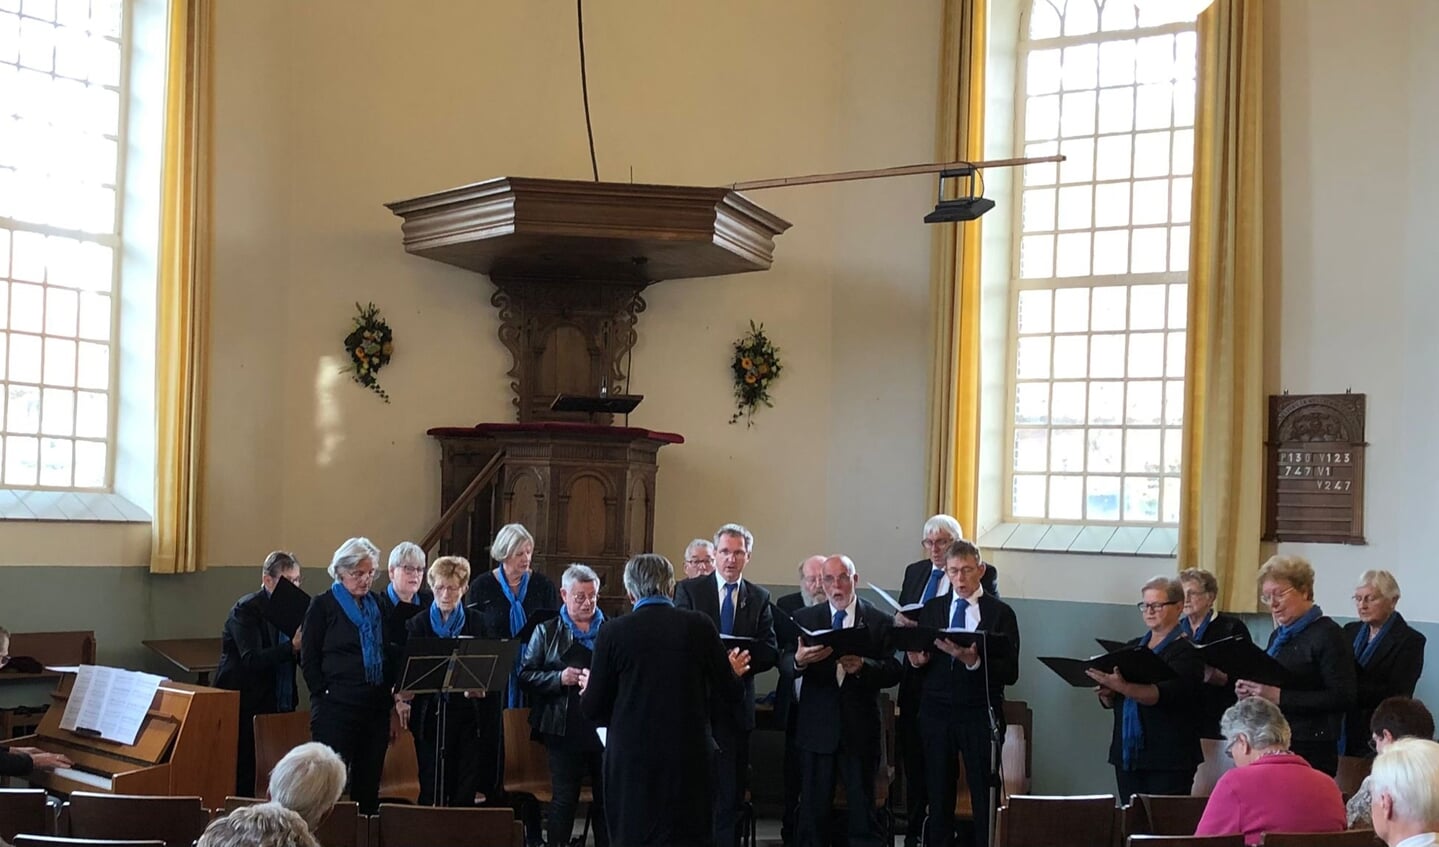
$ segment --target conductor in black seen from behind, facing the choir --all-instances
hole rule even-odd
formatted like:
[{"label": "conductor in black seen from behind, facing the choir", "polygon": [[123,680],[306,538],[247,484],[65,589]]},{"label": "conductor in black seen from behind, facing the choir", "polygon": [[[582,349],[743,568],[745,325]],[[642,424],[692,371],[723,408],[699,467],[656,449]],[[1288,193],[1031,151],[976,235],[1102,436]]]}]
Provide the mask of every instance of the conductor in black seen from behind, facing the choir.
[{"label": "conductor in black seen from behind, facing the choir", "polygon": [[635,611],[606,621],[580,673],[580,709],[609,728],[604,814],[610,843],[625,847],[711,844],[711,708],[743,690],[714,624],[675,608],[673,580],[665,557],[632,558]]}]

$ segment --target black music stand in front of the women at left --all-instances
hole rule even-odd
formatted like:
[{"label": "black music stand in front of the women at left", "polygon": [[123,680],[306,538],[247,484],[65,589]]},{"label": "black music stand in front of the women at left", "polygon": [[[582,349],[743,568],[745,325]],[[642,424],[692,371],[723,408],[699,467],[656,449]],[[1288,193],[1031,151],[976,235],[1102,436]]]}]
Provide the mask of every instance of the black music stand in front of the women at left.
[{"label": "black music stand in front of the women at left", "polygon": [[445,797],[445,735],[449,695],[499,689],[515,666],[521,643],[511,640],[410,638],[404,644],[404,672],[399,690],[435,697],[435,805],[448,805]]}]

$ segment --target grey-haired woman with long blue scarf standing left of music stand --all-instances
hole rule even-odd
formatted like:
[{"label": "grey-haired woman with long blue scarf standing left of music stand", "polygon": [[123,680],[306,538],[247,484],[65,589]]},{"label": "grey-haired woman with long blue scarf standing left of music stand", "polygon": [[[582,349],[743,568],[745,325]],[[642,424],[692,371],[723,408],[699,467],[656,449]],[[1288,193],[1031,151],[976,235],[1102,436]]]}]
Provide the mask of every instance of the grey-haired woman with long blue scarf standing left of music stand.
[{"label": "grey-haired woman with long blue scarf standing left of music stand", "polygon": [[380,600],[370,591],[380,549],[351,538],[330,561],[334,584],[309,601],[299,666],[309,686],[309,735],[350,765],[350,798],[380,811],[380,772],[390,743],[396,657]]}]

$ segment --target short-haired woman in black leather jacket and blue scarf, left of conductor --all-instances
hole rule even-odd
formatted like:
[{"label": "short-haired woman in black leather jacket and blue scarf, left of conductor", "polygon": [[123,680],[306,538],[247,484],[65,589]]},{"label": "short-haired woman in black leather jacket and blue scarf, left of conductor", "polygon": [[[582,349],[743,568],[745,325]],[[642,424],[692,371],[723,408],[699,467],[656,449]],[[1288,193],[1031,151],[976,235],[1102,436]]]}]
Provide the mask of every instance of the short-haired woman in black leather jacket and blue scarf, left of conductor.
[{"label": "short-haired woman in black leather jacket and blue scarf, left of conductor", "polygon": [[604,824],[603,754],[594,723],[580,712],[580,677],[594,653],[594,640],[604,624],[600,611],[600,578],[586,565],[570,565],[560,580],[560,617],[538,627],[525,646],[519,664],[519,686],[534,703],[530,726],[550,751],[554,800],[550,804],[550,844],[568,844],[574,831],[574,810],[586,775],[594,787],[590,807],[594,843],[607,847]]}]

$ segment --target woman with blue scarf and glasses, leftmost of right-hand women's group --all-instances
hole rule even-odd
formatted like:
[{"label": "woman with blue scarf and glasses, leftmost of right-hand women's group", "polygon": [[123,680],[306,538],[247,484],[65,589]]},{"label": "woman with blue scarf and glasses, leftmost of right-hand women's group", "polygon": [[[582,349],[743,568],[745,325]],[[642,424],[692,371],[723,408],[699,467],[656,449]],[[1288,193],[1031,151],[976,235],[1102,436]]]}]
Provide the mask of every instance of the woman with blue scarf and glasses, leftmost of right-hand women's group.
[{"label": "woman with blue scarf and glasses, leftmost of right-hand women's group", "polygon": [[1099,683],[1099,703],[1114,709],[1109,764],[1121,802],[1135,794],[1189,794],[1194,769],[1204,759],[1199,746],[1204,660],[1180,627],[1184,588],[1179,580],[1154,577],[1140,597],[1140,617],[1148,631],[1128,646],[1153,650],[1174,670],[1174,679],[1140,685],[1124,679],[1118,669],[1089,672]]}]

